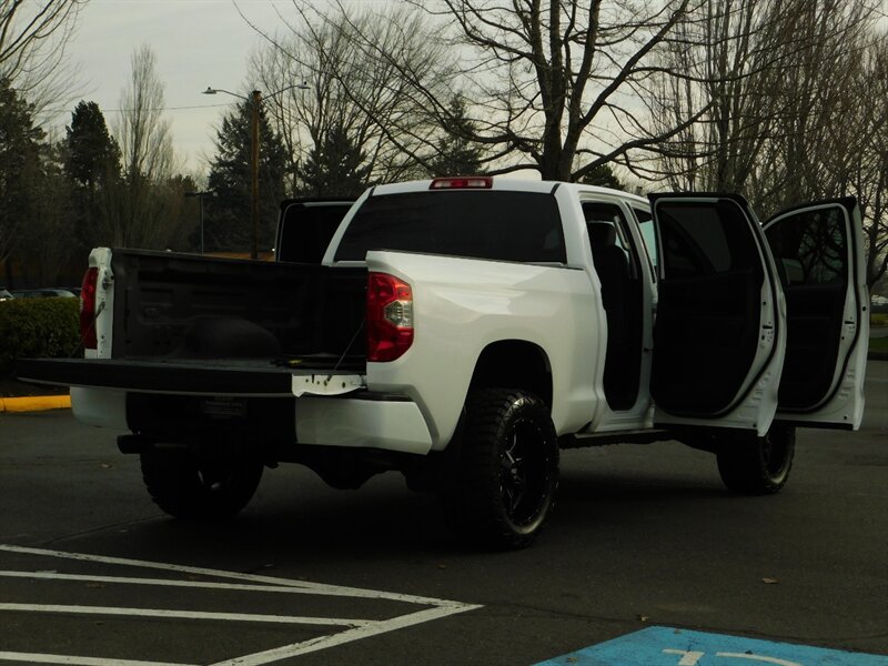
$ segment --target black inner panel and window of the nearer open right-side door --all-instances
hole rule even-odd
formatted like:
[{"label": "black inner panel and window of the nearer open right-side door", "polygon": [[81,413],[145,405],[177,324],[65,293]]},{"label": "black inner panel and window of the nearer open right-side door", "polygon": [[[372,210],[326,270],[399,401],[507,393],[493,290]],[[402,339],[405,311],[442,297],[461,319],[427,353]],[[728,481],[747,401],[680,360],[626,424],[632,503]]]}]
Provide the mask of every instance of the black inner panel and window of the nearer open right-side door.
[{"label": "black inner panel and window of the nearer open right-side door", "polygon": [[729,411],[756,363],[765,271],[741,206],[655,204],[662,276],[650,392],[674,416]]}]

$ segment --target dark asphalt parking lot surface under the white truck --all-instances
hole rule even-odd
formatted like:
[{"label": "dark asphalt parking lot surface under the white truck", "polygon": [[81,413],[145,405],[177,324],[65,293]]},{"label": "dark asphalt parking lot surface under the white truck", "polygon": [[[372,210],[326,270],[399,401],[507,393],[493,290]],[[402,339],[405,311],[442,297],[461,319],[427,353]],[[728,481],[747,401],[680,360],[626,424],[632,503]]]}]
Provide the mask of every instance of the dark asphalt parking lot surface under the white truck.
[{"label": "dark asphalt parking lot surface under the white truck", "polygon": [[[0,662],[886,665],[888,362],[867,398],[859,433],[800,431],[773,497],[676,443],[566,452],[516,553],[465,549],[396,475],[337,492],[282,466],[233,521],[169,519],[112,434],[0,414]],[[577,653],[615,639],[622,660]]]}]

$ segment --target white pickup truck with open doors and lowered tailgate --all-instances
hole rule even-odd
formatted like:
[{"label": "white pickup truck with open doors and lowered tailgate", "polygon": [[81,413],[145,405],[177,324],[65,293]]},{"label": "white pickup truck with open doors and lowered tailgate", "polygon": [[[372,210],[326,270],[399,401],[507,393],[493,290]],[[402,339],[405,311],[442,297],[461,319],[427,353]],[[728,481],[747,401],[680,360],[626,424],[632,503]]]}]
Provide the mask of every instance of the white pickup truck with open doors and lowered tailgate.
[{"label": "white pickup truck with open doors and lowered tailgate", "polygon": [[763,494],[796,426],[860,424],[852,199],[763,225],[736,195],[447,178],[282,210],[274,263],[94,250],[85,357],[20,366],[128,431],[174,516],[235,513],[281,462],[344,488],[395,470],[474,541],[517,547],[559,448],[676,438]]}]

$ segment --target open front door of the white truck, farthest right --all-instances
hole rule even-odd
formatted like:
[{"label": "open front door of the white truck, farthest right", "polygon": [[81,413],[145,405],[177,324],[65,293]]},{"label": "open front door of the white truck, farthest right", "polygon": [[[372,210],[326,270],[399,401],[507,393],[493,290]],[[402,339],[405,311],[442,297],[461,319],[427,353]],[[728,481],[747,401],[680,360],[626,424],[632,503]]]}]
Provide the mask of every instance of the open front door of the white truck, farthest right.
[{"label": "open front door of the white truck, farthest right", "polygon": [[777,418],[857,428],[869,345],[860,210],[805,204],[765,223],[784,283],[787,345]]}]

